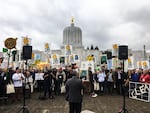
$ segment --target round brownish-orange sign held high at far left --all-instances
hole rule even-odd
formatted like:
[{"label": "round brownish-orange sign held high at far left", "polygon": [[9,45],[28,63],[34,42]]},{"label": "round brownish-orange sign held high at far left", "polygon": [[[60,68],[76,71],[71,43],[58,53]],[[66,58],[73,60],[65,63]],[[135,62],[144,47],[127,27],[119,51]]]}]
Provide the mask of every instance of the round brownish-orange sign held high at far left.
[{"label": "round brownish-orange sign held high at far left", "polygon": [[17,41],[17,38],[7,38],[5,40],[5,47],[7,49],[13,49],[13,48],[16,48],[16,41]]}]

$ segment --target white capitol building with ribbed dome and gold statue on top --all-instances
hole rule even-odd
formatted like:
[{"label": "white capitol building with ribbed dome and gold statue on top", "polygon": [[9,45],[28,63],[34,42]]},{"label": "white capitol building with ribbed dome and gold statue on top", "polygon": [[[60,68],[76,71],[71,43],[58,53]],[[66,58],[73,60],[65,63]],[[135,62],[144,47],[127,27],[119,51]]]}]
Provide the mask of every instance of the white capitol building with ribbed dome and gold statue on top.
[{"label": "white capitol building with ribbed dome and gold statue on top", "polygon": [[[112,48],[102,51],[98,46],[90,45],[89,48],[84,47],[82,30],[75,25],[74,19],[71,19],[70,26],[63,29],[63,41],[59,50],[50,50],[48,43],[45,51],[32,50],[32,59],[28,60],[29,66],[51,66],[64,67],[65,65],[77,64],[79,67],[88,64],[92,66],[105,65],[107,68],[116,68],[121,66],[118,59],[118,46],[114,44]],[[109,53],[109,54],[108,54]],[[111,53],[111,54],[110,54]],[[5,56],[5,55],[4,55]],[[128,49],[128,59],[126,60],[127,68],[139,68],[141,62],[146,62],[149,67],[150,53],[145,50],[133,51]],[[7,59],[1,67],[6,67]],[[23,67],[22,50],[17,50],[15,57],[11,56],[9,67]]]}]

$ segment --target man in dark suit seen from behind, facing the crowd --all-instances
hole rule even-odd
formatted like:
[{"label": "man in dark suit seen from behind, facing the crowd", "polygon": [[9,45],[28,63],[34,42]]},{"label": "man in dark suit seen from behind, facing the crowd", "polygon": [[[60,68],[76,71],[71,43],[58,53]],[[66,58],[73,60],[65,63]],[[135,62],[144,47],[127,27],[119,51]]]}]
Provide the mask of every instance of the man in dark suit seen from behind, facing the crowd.
[{"label": "man in dark suit seen from behind, facing the crowd", "polygon": [[72,73],[72,78],[66,82],[66,100],[69,102],[69,113],[81,113],[83,97],[83,84],[77,72]]}]

